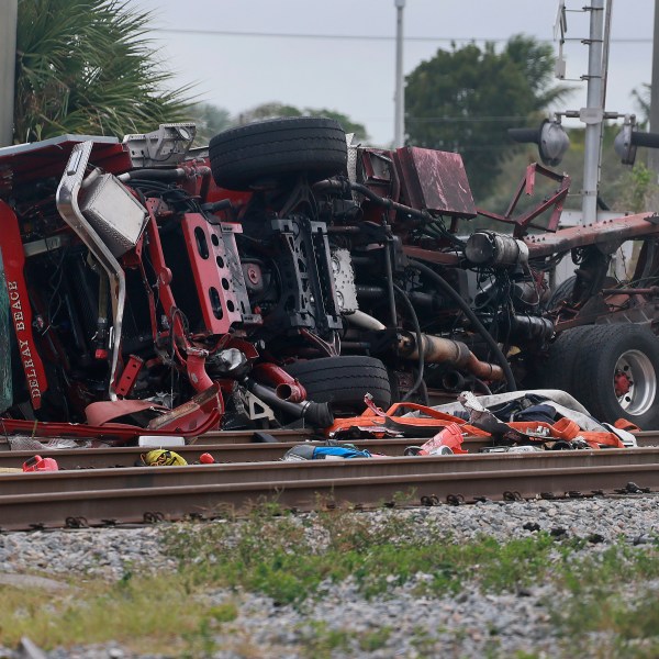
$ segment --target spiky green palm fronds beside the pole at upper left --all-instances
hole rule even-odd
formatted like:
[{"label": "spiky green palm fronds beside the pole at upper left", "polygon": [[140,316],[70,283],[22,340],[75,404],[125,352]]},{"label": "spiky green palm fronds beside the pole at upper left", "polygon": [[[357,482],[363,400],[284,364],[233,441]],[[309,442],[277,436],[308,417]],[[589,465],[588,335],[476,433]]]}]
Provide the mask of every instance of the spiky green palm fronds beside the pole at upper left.
[{"label": "spiky green palm fronds beside the pole at upper left", "polygon": [[148,13],[120,0],[20,0],[14,141],[122,136],[188,118],[144,36]]}]

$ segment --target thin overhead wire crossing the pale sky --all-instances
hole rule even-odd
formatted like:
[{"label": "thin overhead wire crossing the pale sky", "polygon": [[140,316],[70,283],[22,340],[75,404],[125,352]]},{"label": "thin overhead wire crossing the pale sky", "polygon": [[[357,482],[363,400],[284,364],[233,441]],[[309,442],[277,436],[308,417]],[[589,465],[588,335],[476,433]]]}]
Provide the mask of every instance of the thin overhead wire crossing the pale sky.
[{"label": "thin overhead wire crossing the pale sky", "polygon": [[[154,27],[152,32],[167,32],[169,34],[198,34],[206,36],[248,36],[264,38],[322,38],[335,41],[395,41],[395,36],[386,34],[312,34],[302,32],[242,32],[232,30],[202,30],[188,27]],[[451,43],[451,42],[507,42],[507,38],[501,36],[405,36],[406,42],[426,42],[426,43]],[[540,43],[552,43],[551,40],[537,40]],[[569,40],[581,41],[581,40]],[[612,38],[611,43],[617,44],[651,44],[652,37],[629,36]]]}]

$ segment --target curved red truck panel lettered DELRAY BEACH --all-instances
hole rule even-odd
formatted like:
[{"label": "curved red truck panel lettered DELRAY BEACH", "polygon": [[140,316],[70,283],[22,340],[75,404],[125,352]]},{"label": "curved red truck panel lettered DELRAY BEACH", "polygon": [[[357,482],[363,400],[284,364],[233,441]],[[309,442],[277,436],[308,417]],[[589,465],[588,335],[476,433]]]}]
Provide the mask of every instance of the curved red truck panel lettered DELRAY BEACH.
[{"label": "curved red truck panel lettered DELRAY BEACH", "polygon": [[44,365],[36,350],[34,335],[32,333],[32,308],[23,269],[25,267],[25,255],[19,221],[13,210],[0,200],[0,225],[2,225],[2,263],[4,266],[4,279],[11,319],[19,345],[21,364],[30,391],[30,401],[35,410],[42,406],[42,395],[48,389]]}]

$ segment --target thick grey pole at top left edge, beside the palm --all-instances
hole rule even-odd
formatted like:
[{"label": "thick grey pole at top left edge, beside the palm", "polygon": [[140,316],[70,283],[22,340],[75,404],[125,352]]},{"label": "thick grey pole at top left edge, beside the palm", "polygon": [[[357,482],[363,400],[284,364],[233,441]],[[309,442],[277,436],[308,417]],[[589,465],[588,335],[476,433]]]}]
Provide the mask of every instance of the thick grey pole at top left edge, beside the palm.
[{"label": "thick grey pole at top left edge, beside the palm", "polygon": [[13,142],[19,0],[0,0],[0,146]]}]

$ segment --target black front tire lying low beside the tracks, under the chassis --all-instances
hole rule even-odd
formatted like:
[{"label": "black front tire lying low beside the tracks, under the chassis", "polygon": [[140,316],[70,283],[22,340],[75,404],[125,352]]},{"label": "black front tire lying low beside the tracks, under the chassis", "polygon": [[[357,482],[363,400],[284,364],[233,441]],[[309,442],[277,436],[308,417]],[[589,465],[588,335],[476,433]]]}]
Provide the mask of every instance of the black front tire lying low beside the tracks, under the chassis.
[{"label": "black front tire lying low beside the tracks, under the chassis", "polygon": [[364,412],[367,393],[379,407],[387,410],[391,405],[387,368],[375,357],[321,357],[283,368],[306,389],[310,401],[331,403],[334,412]]}]

